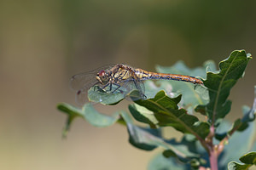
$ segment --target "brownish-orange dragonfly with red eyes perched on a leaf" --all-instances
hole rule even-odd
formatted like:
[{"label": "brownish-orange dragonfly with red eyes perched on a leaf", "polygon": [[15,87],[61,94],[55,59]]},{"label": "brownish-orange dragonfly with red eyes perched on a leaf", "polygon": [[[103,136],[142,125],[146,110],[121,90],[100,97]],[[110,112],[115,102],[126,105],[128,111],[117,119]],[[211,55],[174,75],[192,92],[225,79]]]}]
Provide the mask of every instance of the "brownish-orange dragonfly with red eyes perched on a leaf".
[{"label": "brownish-orange dragonfly with red eyes perched on a leaf", "polygon": [[143,81],[148,79],[175,80],[203,84],[200,79],[195,77],[157,73],[133,68],[129,65],[117,64],[107,65],[94,71],[74,75],[70,80],[70,86],[76,91],[77,103],[83,105],[86,101],[88,90],[96,85],[110,94],[121,93],[126,95],[136,89],[139,93],[137,99],[146,99]]}]

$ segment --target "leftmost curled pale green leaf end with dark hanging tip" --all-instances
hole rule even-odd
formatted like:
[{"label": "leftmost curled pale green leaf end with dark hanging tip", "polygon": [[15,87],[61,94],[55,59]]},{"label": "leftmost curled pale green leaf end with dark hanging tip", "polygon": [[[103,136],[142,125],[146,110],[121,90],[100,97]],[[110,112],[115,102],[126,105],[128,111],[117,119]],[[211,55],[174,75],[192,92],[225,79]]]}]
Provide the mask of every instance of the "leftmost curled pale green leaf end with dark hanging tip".
[{"label": "leftmost curled pale green leaf end with dark hanging tip", "polygon": [[119,120],[119,113],[116,112],[112,116],[104,115],[96,111],[90,103],[85,104],[82,109],[78,109],[73,105],[65,103],[57,105],[57,108],[67,114],[67,123],[63,130],[63,136],[66,136],[71,123],[76,117],[82,117],[96,127],[108,127]]}]

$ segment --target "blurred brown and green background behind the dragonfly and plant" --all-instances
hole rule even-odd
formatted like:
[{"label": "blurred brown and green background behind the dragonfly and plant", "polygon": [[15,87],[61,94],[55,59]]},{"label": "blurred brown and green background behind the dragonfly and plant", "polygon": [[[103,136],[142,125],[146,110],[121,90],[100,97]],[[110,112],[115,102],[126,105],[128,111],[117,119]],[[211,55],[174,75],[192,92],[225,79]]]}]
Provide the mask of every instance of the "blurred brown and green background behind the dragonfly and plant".
[{"label": "blurred brown and green background behind the dragonfly and plant", "polygon": [[[1,0],[0,169],[146,169],[159,150],[132,147],[120,125],[77,119],[61,139],[66,115],[55,106],[75,105],[70,77],[106,64],[154,71],[180,59],[218,63],[235,49],[255,55],[255,8],[253,0]],[[252,106],[255,64],[232,89],[230,120]],[[126,111],[127,103],[98,109]]]}]

